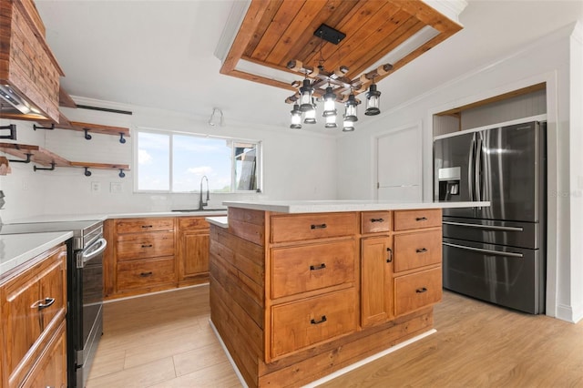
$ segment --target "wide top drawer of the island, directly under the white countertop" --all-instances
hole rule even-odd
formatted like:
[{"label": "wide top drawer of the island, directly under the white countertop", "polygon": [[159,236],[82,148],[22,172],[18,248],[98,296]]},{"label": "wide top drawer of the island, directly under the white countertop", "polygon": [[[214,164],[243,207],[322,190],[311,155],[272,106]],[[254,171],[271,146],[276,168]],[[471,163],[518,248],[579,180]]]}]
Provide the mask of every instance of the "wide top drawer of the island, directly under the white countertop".
[{"label": "wide top drawer of the island, directly under the white countertop", "polygon": [[271,217],[271,242],[324,239],[356,233],[356,213]]}]

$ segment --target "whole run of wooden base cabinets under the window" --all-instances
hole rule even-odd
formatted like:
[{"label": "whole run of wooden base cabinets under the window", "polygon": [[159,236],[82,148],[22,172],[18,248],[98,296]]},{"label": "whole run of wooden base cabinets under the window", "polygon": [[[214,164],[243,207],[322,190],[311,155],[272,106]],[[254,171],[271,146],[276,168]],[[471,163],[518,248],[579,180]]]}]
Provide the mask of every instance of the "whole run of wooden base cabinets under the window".
[{"label": "whole run of wooden base cabinets under the window", "polygon": [[106,299],[209,281],[209,223],[205,217],[107,220]]}]

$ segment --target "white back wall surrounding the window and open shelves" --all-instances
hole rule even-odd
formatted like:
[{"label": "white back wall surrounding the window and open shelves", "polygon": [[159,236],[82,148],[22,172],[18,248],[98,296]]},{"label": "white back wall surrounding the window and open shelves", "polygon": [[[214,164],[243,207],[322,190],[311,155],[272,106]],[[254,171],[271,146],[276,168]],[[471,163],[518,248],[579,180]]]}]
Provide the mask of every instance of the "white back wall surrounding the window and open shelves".
[{"label": "white back wall surrounding the window and open shelves", "polygon": [[[176,112],[143,107],[118,106],[103,101],[76,97],[77,104],[113,107],[131,110],[133,115],[120,115],[88,109],[63,108],[72,121],[107,126],[159,128],[231,138],[261,140],[263,151],[262,193],[211,194],[210,205],[223,200],[238,199],[335,199],[336,181],[331,171],[336,164],[336,146],[333,138],[292,131],[286,128],[266,128],[241,125],[226,115],[223,128],[207,125],[209,117],[192,117]],[[73,161],[120,163],[133,166],[132,138],[126,144],[118,137],[93,134],[91,140],[82,132],[58,129],[33,131],[26,121],[0,120],[0,125],[17,124],[18,140],[35,144]],[[131,213],[168,211],[192,208],[198,205],[196,194],[151,194],[133,192],[133,172],[125,178],[117,170],[91,170],[86,177],[83,168],[56,168],[55,171],[33,172],[33,163],[11,164],[13,173],[0,178],[0,189],[5,193],[5,209],[0,210],[4,222],[22,220],[39,215],[90,215],[98,213]],[[91,191],[91,182],[100,183],[100,191]],[[121,183],[122,192],[110,192],[111,183]],[[197,188],[193,188],[197,189]]]}]

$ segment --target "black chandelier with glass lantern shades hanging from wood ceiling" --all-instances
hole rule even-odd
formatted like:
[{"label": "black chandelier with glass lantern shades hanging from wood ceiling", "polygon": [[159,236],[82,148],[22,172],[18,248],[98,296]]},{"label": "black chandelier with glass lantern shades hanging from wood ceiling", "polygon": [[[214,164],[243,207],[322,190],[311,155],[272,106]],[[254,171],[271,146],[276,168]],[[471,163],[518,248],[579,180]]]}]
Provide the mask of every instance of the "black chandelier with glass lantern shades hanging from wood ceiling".
[{"label": "black chandelier with glass lantern shades hanging from wood ceiling", "polygon": [[[324,118],[325,128],[338,128],[337,117],[338,110],[336,102],[344,106],[343,113],[343,132],[354,130],[355,123],[358,121],[357,107],[361,104],[360,99],[356,98],[360,93],[366,92],[366,110],[364,115],[375,116],[381,113],[380,97],[381,92],[377,90],[374,83],[375,77],[384,76],[393,69],[390,64],[378,66],[372,71],[350,79],[345,77],[349,72],[347,66],[339,66],[332,72],[324,69],[324,59],[322,57],[323,41],[338,45],[345,35],[333,29],[330,26],[322,25],[314,33],[314,36],[320,37],[320,59],[318,66],[306,66],[299,60],[291,60],[287,68],[300,73],[304,76],[302,81],[294,81],[292,87],[297,87],[298,91],[286,98],[285,102],[293,104],[291,113],[292,123],[290,128],[301,129],[302,124],[312,125],[317,122],[317,104],[323,105],[322,117]],[[325,88],[324,88],[325,87]]]}]

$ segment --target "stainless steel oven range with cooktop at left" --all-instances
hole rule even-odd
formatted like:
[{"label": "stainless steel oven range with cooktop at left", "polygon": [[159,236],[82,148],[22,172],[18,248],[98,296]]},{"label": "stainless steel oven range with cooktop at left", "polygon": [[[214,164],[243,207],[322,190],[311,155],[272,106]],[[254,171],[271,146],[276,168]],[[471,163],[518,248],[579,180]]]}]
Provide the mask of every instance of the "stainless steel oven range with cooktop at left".
[{"label": "stainless steel oven range with cooktop at left", "polygon": [[103,222],[82,220],[0,225],[0,234],[73,231],[67,245],[67,384],[85,387],[103,332]]}]

